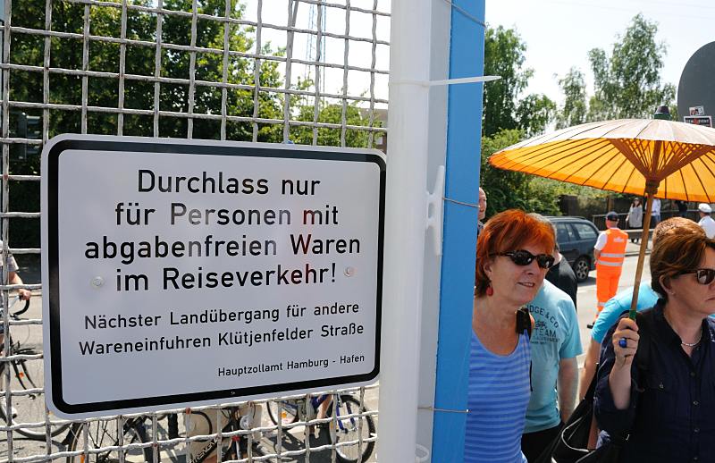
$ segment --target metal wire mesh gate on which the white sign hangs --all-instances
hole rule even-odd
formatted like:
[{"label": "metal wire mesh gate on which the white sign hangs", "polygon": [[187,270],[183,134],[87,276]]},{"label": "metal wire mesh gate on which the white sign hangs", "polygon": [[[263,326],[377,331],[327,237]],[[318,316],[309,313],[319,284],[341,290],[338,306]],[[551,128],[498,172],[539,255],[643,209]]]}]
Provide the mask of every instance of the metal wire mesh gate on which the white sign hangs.
[{"label": "metal wire mesh gate on which the white sign hangs", "polygon": [[[189,461],[191,442],[211,438],[219,447],[248,442],[240,461],[362,460],[376,440],[375,389],[333,396],[327,417],[311,412],[318,392],[71,424],[48,416],[39,153],[66,132],[384,149],[389,0],[0,1],[3,268],[13,269],[9,251],[25,283],[4,273],[0,288],[10,333],[0,357],[0,460]],[[18,288],[34,296],[16,319],[21,304],[8,306]],[[345,402],[356,404],[343,417],[357,428],[338,439]],[[197,417],[216,423],[231,413],[241,418],[236,430],[192,431]]]}]

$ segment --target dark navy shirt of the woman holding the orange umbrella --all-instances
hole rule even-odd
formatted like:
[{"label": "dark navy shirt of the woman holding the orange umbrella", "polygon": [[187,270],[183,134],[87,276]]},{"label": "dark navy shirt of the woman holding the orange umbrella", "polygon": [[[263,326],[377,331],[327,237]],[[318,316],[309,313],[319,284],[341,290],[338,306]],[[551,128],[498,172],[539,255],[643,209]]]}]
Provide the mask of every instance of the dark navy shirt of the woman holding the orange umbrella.
[{"label": "dark navy shirt of the woman holding the orange umbrella", "polygon": [[[618,410],[610,393],[615,362],[611,337],[603,340],[594,412],[601,429],[627,435],[620,459],[628,463],[685,463],[715,459],[715,322],[702,321],[702,338],[688,357],[663,316],[663,301],[643,312],[651,326],[648,369],[631,369],[631,400]],[[639,329],[643,329],[639,324]],[[642,388],[643,392],[637,389]]]}]

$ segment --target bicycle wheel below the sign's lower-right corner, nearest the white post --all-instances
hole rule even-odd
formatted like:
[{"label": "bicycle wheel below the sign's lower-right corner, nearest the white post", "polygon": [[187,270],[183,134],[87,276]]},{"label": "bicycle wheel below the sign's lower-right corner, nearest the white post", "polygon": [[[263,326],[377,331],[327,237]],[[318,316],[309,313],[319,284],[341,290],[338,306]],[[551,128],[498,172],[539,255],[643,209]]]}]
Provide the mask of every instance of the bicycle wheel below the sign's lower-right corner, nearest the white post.
[{"label": "bicycle wheel below the sign's lower-right corner, nearest the white post", "polygon": [[[337,447],[335,449],[338,461],[341,463],[364,462],[370,458],[374,450],[374,441],[365,442],[367,438],[375,435],[374,419],[372,416],[347,417],[355,413],[365,413],[367,408],[360,408],[359,400],[351,395],[341,395],[338,401],[338,423],[337,426],[331,421],[328,425],[328,434],[331,443],[353,442],[350,445]],[[332,406],[328,408],[328,417],[332,417]],[[362,423],[360,423],[362,422]],[[333,434],[333,429],[335,433]],[[334,437],[333,437],[334,435]],[[362,435],[362,455],[358,445],[360,435]]]}]

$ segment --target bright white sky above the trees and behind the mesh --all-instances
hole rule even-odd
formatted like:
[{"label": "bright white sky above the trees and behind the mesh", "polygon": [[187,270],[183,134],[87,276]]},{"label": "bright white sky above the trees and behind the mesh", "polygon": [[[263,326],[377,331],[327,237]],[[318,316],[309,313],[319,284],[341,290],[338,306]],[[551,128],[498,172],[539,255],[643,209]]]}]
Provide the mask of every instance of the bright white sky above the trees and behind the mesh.
[{"label": "bright white sky above the trees and behind the mesh", "polygon": [[[256,21],[258,0],[245,0],[245,18]],[[440,0],[433,0],[440,2]],[[558,86],[559,76],[564,76],[575,66],[585,73],[589,93],[593,93],[593,78],[588,63],[588,51],[594,47],[604,49],[608,55],[618,34],[624,34],[637,13],[643,13],[649,21],[658,25],[657,39],[665,42],[668,54],[662,70],[662,81],[677,86],[680,73],[687,60],[701,46],[715,41],[715,2],[698,3],[697,0],[485,0],[486,21],[492,26],[515,28],[526,42],[525,66],[534,70],[527,93],[543,93],[560,102],[562,95]],[[372,9],[375,0],[350,0],[353,7]],[[376,0],[377,10],[389,13],[390,0]],[[286,0],[263,0],[263,21],[285,25],[288,21]],[[333,0],[329,4],[345,4],[344,0]],[[312,7],[315,13],[315,6]],[[311,5],[299,3],[296,26],[308,29]],[[358,38],[372,38],[373,21],[378,40],[390,40],[390,18],[372,14],[353,12],[349,16],[349,34]],[[315,29],[315,25],[313,26]],[[326,8],[325,29],[344,34],[346,28],[345,10]],[[293,56],[306,59],[307,34],[294,35]],[[269,40],[273,48],[285,46],[287,34],[284,30],[266,27],[263,40]],[[344,40],[327,38],[324,59],[328,63],[344,63]],[[389,70],[389,46],[379,45],[375,50],[375,68]],[[348,62],[350,65],[369,68],[372,59],[372,45],[367,42],[351,41]],[[292,67],[292,81],[315,75],[315,67],[296,63]],[[282,72],[284,67],[282,66]],[[374,95],[387,99],[387,75],[374,76]],[[324,75],[327,92],[341,92],[343,73],[341,69],[328,69]],[[348,73],[350,95],[369,97],[370,74],[350,71]],[[378,104],[384,107],[385,105]]]}]

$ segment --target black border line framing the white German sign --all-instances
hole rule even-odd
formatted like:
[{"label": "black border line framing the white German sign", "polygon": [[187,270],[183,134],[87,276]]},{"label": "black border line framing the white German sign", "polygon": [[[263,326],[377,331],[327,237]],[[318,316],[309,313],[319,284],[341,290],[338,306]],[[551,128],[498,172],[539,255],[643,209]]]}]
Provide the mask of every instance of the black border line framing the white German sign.
[{"label": "black border line framing the white German sign", "polygon": [[[209,143],[206,143],[209,142]],[[240,400],[245,396],[257,396],[282,391],[297,391],[305,389],[319,389],[336,384],[367,383],[373,380],[380,371],[380,337],[382,330],[382,300],[383,300],[383,246],[384,246],[384,213],[385,213],[385,176],[386,165],[382,156],[377,152],[360,152],[351,148],[320,148],[280,146],[255,143],[231,142],[231,145],[220,145],[213,140],[176,140],[159,142],[154,139],[62,139],[50,147],[45,162],[47,163],[47,262],[49,274],[49,324],[50,324],[50,358],[52,373],[52,401],[55,407],[67,415],[86,414],[91,412],[122,410],[127,408],[149,408],[189,402],[206,402],[207,400]],[[173,394],[140,399],[107,400],[102,402],[88,402],[83,404],[70,404],[63,400],[62,383],[62,352],[60,342],[60,288],[59,288],[59,189],[58,174],[59,160],[66,150],[91,150],[91,151],[130,151],[147,154],[190,154],[211,156],[251,156],[251,157],[278,157],[319,159],[330,161],[374,163],[380,168],[380,215],[378,230],[378,255],[377,255],[377,295],[375,313],[375,356],[374,368],[363,375],[336,376],[312,381],[298,381],[292,383],[270,384],[266,386],[253,386],[239,389],[225,389],[221,391],[192,392],[187,394]],[[344,149],[338,151],[338,149]],[[90,386],[91,387],[91,386]]]}]

